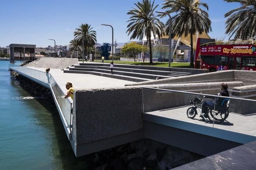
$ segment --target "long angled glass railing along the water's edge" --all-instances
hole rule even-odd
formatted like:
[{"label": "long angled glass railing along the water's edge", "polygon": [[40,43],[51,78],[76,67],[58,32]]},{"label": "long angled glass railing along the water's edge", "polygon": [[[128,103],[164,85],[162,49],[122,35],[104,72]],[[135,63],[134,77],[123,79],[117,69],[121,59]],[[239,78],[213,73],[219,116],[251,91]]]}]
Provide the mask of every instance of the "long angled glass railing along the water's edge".
[{"label": "long angled glass railing along the water's edge", "polygon": [[27,67],[22,67],[19,65],[15,65],[13,63],[9,63],[9,69],[16,71],[24,76],[29,76],[31,78],[36,79],[37,81],[41,81],[43,83],[49,84],[49,87],[53,93],[53,98],[57,101],[57,107],[60,108],[64,121],[66,124],[66,128],[69,129],[69,133],[72,132],[72,101],[70,99],[65,99],[64,92],[61,90],[57,82],[54,80],[50,73],[30,69]]}]

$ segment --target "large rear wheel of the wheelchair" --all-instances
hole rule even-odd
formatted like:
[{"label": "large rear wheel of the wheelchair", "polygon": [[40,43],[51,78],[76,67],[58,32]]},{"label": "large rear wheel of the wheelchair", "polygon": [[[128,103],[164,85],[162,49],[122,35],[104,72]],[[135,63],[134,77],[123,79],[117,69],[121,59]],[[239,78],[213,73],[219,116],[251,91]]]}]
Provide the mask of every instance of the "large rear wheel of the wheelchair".
[{"label": "large rear wheel of the wheelchair", "polygon": [[214,121],[215,123],[222,123],[223,121],[225,121],[226,118],[227,118],[227,113],[223,109],[223,107],[215,106],[215,110],[214,110],[214,106],[211,106],[208,109],[208,119],[210,121],[212,122]]}]

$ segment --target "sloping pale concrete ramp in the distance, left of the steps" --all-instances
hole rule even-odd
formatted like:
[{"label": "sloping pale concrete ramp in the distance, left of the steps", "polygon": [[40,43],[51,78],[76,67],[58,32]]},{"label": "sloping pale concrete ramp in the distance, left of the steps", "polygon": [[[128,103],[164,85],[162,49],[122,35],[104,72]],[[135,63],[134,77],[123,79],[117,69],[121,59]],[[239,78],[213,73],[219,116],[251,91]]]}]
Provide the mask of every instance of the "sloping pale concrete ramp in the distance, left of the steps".
[{"label": "sloping pale concrete ramp in the distance, left of the steps", "polygon": [[77,58],[40,58],[30,62],[29,67],[39,67],[39,68],[51,68],[51,69],[64,69],[70,65],[78,63]]}]

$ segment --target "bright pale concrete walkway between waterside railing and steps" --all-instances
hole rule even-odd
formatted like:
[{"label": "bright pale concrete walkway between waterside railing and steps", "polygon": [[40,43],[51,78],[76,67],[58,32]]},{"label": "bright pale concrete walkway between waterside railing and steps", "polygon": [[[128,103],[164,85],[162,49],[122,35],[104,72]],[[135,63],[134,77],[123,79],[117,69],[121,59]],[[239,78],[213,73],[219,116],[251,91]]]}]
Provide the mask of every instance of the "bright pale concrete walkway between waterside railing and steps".
[{"label": "bright pale concrete walkway between waterside railing and steps", "polygon": [[[45,72],[46,68],[28,67]],[[59,87],[66,92],[66,82],[71,82],[75,89],[91,89],[91,88],[110,88],[110,87],[123,87],[131,81],[119,80],[114,78],[107,78],[102,76],[95,76],[91,74],[73,74],[64,73],[61,69],[51,69],[49,72]]]}]

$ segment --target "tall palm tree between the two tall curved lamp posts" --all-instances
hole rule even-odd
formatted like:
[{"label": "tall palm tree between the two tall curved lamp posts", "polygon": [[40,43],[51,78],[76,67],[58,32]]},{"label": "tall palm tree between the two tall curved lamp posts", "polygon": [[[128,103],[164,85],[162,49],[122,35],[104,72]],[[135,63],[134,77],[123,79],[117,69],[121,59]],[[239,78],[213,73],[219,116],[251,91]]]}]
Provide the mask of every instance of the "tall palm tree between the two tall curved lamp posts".
[{"label": "tall palm tree between the two tall curved lamp posts", "polygon": [[164,35],[164,23],[160,22],[158,18],[155,17],[154,11],[158,7],[155,5],[155,0],[142,0],[134,4],[136,8],[133,7],[132,10],[129,10],[127,14],[131,15],[129,24],[127,25],[128,35],[131,34],[131,39],[139,39],[140,41],[146,35],[147,40],[149,40],[149,56],[150,63],[152,62],[152,47],[151,47],[151,33],[153,33],[154,38],[156,35],[161,37]]}]

